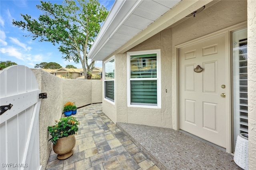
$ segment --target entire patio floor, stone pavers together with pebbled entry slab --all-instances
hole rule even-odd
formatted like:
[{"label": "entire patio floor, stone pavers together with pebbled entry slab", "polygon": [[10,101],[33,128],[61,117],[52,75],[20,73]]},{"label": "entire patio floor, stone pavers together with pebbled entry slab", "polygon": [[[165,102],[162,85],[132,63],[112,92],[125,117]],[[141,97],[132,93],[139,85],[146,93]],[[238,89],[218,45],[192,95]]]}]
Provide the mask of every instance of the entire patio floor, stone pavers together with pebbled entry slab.
[{"label": "entire patio floor, stone pavers together with pebbled entry slab", "polygon": [[74,117],[80,121],[74,154],[57,160],[52,150],[47,170],[240,169],[231,154],[182,132],[128,123],[116,126],[102,113],[101,103],[78,109]]}]

